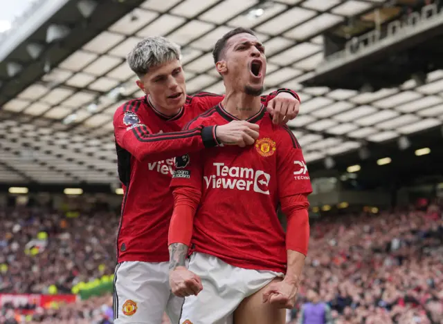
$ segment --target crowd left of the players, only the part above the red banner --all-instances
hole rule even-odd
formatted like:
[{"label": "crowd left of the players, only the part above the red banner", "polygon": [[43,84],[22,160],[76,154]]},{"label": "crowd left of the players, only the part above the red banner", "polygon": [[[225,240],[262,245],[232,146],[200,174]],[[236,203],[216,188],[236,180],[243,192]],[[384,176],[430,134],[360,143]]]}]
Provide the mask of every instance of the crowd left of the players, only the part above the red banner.
[{"label": "crowd left of the players, only the part above the red banner", "polygon": [[0,222],[0,265],[6,272],[0,292],[46,294],[55,285],[69,294],[76,283],[114,273],[114,213],[67,218],[39,208],[4,209]]}]

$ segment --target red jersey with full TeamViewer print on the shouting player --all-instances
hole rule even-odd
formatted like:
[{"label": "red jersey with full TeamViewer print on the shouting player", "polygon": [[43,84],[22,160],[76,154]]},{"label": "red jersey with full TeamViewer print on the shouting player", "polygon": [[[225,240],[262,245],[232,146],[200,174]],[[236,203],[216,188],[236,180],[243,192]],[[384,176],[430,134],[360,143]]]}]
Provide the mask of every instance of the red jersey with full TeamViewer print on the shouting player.
[{"label": "red jersey with full TeamViewer print on the shouting player", "polygon": [[[189,128],[234,119],[219,104]],[[287,126],[274,125],[264,106],[248,122],[260,125],[253,146],[214,147],[179,157],[171,187],[202,193],[192,251],[235,267],[285,273],[286,240],[278,204],[281,198],[311,193],[311,181],[300,145]]]}]

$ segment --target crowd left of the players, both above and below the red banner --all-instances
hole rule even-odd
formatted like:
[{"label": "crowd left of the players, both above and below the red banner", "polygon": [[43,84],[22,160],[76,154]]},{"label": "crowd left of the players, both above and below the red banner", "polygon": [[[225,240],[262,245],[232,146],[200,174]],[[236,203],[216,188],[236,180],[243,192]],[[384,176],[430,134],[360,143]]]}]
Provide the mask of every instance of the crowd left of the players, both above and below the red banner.
[{"label": "crowd left of the players, both above and below the red banner", "polygon": [[[107,211],[1,209],[0,296],[71,294],[78,283],[113,274],[117,227],[118,217]],[[1,306],[1,324],[105,324],[113,318],[111,292],[55,309],[29,304]],[[24,316],[29,310],[33,316]]]}]

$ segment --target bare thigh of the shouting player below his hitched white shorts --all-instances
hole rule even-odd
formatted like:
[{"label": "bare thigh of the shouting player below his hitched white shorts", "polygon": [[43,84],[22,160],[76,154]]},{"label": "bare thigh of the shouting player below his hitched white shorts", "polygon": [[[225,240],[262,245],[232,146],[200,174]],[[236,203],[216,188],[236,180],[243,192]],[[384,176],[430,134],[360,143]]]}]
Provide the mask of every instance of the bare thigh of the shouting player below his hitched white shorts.
[{"label": "bare thigh of the shouting player below his hitched white shorts", "polygon": [[[271,283],[280,281],[275,278]],[[270,285],[269,283],[268,285]],[[234,312],[234,324],[284,324],[286,309],[278,309],[269,303],[263,303],[262,295],[267,285],[255,294],[244,298]]]}]

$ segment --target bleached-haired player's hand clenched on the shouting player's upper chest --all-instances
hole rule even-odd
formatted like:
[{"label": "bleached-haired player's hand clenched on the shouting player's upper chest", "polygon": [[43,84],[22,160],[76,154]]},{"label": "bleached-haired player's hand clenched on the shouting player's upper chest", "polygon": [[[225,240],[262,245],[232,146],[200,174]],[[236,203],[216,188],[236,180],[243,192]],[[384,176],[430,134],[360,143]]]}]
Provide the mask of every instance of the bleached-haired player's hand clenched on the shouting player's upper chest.
[{"label": "bleached-haired player's hand clenched on the shouting player's upper chest", "polygon": [[244,147],[254,144],[258,138],[259,126],[244,120],[233,120],[229,124],[217,126],[217,140],[223,144]]}]

